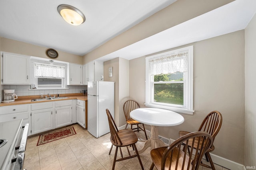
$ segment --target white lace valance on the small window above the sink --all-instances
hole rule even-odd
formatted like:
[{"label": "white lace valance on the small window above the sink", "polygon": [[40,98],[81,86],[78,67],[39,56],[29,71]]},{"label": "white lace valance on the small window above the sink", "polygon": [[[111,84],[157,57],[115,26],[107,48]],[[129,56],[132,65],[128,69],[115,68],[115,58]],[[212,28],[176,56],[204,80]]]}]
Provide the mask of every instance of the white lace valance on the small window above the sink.
[{"label": "white lace valance on the small window above the sink", "polygon": [[65,67],[35,63],[35,76],[65,78]]}]

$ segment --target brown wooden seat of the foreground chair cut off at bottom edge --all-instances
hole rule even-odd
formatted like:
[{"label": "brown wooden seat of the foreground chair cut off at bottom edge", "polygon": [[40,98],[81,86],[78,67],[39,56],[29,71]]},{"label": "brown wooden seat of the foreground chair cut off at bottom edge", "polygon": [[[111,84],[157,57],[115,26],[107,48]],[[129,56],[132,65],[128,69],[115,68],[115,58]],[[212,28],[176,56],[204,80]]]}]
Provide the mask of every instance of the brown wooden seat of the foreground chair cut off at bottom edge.
[{"label": "brown wooden seat of the foreground chair cut off at bottom edge", "polygon": [[[164,151],[166,150],[167,147],[160,147],[160,148],[156,148],[156,149],[153,149],[151,150],[150,152],[150,155],[151,155],[151,158],[152,158],[152,161],[154,162],[156,168],[158,170],[161,169],[161,160],[162,160],[162,156],[163,156],[163,153]],[[180,153],[178,154],[178,148],[174,148],[173,150],[173,155],[172,155],[172,166],[171,166],[171,170],[176,170],[175,166],[176,166],[176,160],[177,158],[179,159],[179,164],[178,164],[178,167],[177,169],[180,170],[182,169],[182,162],[183,162],[183,158],[184,158],[184,152],[180,150]],[[189,160],[189,156],[186,155],[186,162],[185,162],[185,167],[187,167],[188,165],[188,160]],[[169,170],[169,164],[170,164],[170,156],[167,156],[166,158],[166,166],[165,166],[165,170]],[[192,166],[190,166],[189,170],[191,170]]]}]

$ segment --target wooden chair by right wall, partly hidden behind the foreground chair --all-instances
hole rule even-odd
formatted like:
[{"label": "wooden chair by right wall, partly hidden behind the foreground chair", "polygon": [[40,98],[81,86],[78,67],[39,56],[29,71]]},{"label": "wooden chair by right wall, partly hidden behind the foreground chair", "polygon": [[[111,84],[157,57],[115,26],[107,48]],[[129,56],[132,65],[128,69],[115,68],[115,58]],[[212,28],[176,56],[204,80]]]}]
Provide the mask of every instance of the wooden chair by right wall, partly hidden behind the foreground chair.
[{"label": "wooden chair by right wall, partly hidden behind the foreground chair", "polygon": [[[221,115],[221,113],[218,112],[218,111],[212,111],[208,115],[206,115],[206,117],[202,121],[198,131],[208,132],[210,135],[212,135],[212,138],[214,140],[216,135],[220,131],[221,125],[222,125],[222,115]],[[190,132],[179,131],[179,137],[182,137],[182,136],[184,136],[184,135],[186,135],[188,133],[190,133]],[[207,162],[210,161],[210,165],[211,166],[208,166],[208,165],[203,164],[201,162],[202,166],[205,166],[207,168],[212,168],[213,170],[215,170],[215,167],[214,167],[214,164],[212,162],[212,158],[211,158],[209,152],[212,152],[214,149],[215,149],[214,145],[211,145],[211,147],[205,153],[206,160],[207,160]]]}]

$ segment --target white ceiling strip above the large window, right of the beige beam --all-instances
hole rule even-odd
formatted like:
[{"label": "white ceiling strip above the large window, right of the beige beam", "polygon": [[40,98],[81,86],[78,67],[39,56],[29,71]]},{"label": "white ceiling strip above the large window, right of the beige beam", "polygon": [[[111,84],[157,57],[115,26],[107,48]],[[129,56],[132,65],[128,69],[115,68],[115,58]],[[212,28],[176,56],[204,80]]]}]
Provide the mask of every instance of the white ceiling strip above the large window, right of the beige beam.
[{"label": "white ceiling strip above the large window, right of the beige beam", "polygon": [[242,30],[246,28],[255,13],[256,0],[236,0],[98,60],[107,61],[116,57],[130,60]]}]

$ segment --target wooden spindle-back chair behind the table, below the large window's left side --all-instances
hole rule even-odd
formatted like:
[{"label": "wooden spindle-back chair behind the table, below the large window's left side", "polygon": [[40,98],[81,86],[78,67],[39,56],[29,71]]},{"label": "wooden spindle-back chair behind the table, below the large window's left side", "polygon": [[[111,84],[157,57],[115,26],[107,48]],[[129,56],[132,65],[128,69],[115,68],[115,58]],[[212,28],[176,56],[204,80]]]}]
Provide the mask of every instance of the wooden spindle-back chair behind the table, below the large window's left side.
[{"label": "wooden spindle-back chair behind the table, below the large window's left side", "polygon": [[[144,124],[140,123],[139,121],[136,121],[130,117],[130,112],[133,111],[134,109],[138,109],[138,108],[140,108],[140,105],[135,100],[127,100],[126,102],[124,102],[123,109],[124,109],[124,115],[126,118],[125,129],[127,128],[128,124],[129,124],[131,126],[131,129],[135,132],[144,131],[146,140],[148,140]],[[139,126],[140,124],[142,124],[143,129]],[[137,127],[132,128],[132,125],[137,125]]]}]

